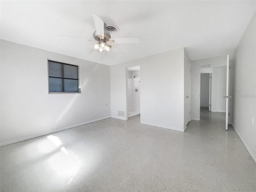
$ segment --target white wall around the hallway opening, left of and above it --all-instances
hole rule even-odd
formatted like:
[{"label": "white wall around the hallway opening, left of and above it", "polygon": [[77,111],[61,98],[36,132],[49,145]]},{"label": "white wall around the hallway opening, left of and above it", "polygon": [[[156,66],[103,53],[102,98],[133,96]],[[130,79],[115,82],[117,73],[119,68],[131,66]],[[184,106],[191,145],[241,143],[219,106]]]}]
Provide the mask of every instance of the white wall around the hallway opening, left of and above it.
[{"label": "white wall around the hallway opening, left of and above it", "polygon": [[209,67],[225,64],[227,56],[218,56],[191,61],[191,119],[200,120],[200,70],[202,65]]}]

